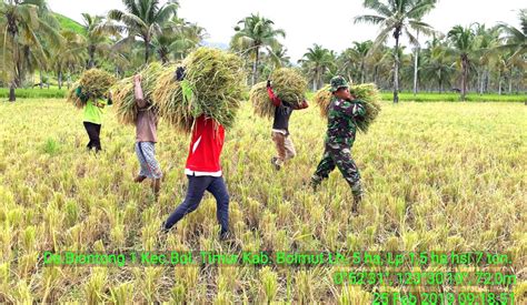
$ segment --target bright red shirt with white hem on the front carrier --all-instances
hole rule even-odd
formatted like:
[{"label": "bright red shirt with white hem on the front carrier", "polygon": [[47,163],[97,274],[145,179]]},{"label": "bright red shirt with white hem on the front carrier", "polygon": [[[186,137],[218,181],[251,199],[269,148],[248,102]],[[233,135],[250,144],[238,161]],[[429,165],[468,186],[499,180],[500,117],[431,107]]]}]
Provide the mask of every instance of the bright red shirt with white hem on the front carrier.
[{"label": "bright red shirt with white hem on the front carrier", "polygon": [[221,176],[220,155],[225,129],[205,115],[196,119],[185,173],[197,176]]}]

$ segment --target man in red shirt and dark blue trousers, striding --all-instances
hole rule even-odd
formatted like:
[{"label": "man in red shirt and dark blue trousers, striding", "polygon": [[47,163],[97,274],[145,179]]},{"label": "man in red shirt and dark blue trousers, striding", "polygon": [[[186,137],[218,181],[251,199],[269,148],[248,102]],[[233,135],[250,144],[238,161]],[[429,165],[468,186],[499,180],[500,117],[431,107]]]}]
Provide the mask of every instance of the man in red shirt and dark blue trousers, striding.
[{"label": "man in red shirt and dark blue trousers, striding", "polygon": [[217,204],[216,216],[221,226],[220,238],[229,232],[229,193],[222,177],[220,155],[223,149],[225,130],[216,120],[205,115],[196,119],[185,173],[189,187],[185,201],[176,207],[163,224],[168,232],[185,215],[198,209],[205,191],[210,192]]}]

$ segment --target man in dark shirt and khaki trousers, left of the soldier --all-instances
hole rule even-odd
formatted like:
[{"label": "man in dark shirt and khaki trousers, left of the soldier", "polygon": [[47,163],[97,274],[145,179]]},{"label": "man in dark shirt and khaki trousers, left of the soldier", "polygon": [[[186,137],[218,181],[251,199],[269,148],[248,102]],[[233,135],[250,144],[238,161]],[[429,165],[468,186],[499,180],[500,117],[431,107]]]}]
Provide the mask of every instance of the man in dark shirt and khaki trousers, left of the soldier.
[{"label": "man in dark shirt and khaki trousers, left of the soldier", "polygon": [[307,109],[309,105],[306,100],[304,100],[299,105],[281,101],[272,91],[270,80],[267,81],[267,92],[269,99],[275,105],[272,141],[275,142],[278,152],[278,156],[271,159],[271,164],[277,171],[279,171],[287,160],[295,157],[297,154],[289,134],[289,119],[291,118],[291,113],[294,110]]}]

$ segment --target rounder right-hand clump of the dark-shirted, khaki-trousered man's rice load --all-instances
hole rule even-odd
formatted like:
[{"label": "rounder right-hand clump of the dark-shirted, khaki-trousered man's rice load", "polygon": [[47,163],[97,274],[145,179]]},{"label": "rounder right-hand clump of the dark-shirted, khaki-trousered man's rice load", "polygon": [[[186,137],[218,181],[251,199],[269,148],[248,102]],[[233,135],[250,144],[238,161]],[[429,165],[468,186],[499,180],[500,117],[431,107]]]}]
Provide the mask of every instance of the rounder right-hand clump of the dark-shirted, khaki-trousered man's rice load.
[{"label": "rounder right-hand clump of the dark-shirted, khaki-trousered man's rice load", "polygon": [[307,81],[295,69],[277,69],[271,73],[270,79],[272,91],[280,100],[296,105],[305,100]]}]

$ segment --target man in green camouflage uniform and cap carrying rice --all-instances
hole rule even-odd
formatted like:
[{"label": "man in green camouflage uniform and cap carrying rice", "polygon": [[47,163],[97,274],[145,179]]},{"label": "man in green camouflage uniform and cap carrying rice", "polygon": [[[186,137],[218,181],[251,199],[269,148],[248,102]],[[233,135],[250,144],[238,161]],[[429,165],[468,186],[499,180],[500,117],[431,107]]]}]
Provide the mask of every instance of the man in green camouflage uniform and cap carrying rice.
[{"label": "man in green camouflage uniform and cap carrying rice", "polygon": [[355,120],[365,115],[366,108],[362,101],[351,96],[348,83],[342,77],[332,78],[330,84],[334,100],[329,105],[325,152],[311,177],[311,186],[317,190],[322,180],[327,179],[337,166],[351,186],[355,201],[352,209],[356,212],[357,204],[362,199],[362,186],[359,170],[351,159],[351,146],[357,132]]}]

